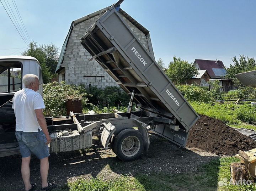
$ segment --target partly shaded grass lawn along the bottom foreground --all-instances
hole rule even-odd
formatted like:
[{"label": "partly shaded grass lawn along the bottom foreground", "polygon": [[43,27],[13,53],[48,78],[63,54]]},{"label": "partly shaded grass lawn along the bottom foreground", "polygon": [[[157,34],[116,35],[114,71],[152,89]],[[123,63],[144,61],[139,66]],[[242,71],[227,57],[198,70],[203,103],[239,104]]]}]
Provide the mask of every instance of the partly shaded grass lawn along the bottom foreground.
[{"label": "partly shaded grass lawn along the bottom foreground", "polygon": [[[222,157],[203,165],[197,172],[181,174],[120,175],[114,180],[100,178],[79,179],[69,183],[69,191],[255,191],[255,185],[227,185],[230,180],[230,163],[235,157]],[[219,181],[223,181],[219,186]],[[222,182],[220,182],[222,183]]]}]

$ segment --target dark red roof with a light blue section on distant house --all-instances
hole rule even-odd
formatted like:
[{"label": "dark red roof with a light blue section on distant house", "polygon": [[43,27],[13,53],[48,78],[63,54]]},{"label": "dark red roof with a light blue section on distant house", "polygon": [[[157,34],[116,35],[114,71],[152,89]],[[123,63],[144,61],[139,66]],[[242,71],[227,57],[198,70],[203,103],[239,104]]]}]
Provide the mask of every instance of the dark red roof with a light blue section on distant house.
[{"label": "dark red roof with a light blue section on distant house", "polygon": [[226,70],[221,60],[200,60],[196,59],[194,64],[197,63],[201,70],[207,70],[210,76],[225,76]]}]

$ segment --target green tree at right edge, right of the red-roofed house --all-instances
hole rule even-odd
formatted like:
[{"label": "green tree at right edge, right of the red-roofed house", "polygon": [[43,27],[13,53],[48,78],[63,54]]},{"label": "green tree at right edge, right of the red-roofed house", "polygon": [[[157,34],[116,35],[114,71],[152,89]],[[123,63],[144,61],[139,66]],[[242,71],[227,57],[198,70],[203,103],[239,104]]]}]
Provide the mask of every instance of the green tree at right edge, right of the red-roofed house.
[{"label": "green tree at right edge, right of the red-roofed house", "polygon": [[240,55],[240,58],[237,60],[237,58],[234,56],[232,59],[233,65],[230,64],[228,68],[226,68],[226,78],[235,78],[235,74],[241,73],[241,72],[248,72],[251,70],[256,69],[256,61],[254,58],[249,58],[244,55]]}]

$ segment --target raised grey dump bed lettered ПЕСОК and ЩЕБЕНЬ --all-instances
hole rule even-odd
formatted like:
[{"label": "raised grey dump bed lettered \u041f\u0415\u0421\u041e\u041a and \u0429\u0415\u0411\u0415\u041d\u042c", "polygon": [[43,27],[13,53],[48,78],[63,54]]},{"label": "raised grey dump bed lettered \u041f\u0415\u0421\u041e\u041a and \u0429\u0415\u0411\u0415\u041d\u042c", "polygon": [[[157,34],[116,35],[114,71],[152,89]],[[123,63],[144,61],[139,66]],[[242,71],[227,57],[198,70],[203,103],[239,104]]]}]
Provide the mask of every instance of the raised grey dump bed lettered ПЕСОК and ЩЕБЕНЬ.
[{"label": "raised grey dump bed lettered \u041f\u0415\u0421\u041e\u041a and \u0429\u0415\u0411\u0415\u041d\u042c", "polygon": [[[118,7],[109,7],[80,43],[92,55],[91,60],[95,59],[124,91],[135,92],[135,102],[148,115],[174,119],[185,135],[175,134],[172,138],[186,139],[198,114],[128,27]],[[164,128],[154,130],[163,135]]]}]

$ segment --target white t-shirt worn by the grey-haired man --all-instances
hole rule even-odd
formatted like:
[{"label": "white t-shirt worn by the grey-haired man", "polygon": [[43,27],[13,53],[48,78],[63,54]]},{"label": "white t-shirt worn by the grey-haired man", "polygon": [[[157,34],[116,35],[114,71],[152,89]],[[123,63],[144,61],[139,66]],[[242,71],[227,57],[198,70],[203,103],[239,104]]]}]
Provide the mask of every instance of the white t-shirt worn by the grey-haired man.
[{"label": "white t-shirt worn by the grey-haired man", "polygon": [[44,109],[43,98],[29,88],[23,88],[14,94],[12,108],[16,117],[16,131],[38,132],[42,130],[37,122],[34,109]]}]

